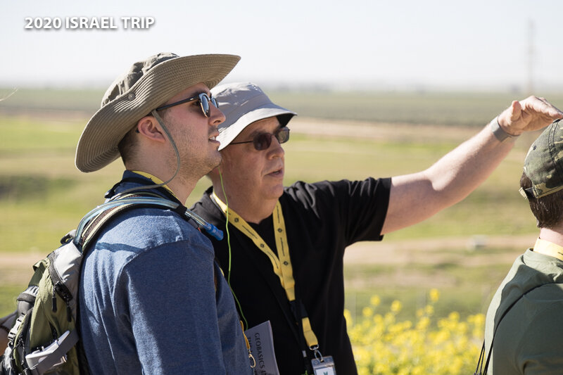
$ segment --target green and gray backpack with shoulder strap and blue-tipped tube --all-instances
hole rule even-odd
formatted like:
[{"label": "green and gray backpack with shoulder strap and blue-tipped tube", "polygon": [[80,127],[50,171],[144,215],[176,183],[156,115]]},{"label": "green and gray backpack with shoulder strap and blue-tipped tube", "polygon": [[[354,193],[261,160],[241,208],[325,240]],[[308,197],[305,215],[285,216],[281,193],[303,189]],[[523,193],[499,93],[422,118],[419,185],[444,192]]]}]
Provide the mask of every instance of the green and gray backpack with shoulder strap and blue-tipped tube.
[{"label": "green and gray backpack with shoulder strap and blue-tipped tube", "polygon": [[220,230],[184,205],[153,195],[123,196],[94,208],[61,239],[61,247],[33,266],[30,284],[17,298],[17,319],[0,357],[0,375],[88,374],[77,327],[82,259],[106,222],[139,206],[175,210],[186,220],[194,220],[194,226],[222,238]]}]

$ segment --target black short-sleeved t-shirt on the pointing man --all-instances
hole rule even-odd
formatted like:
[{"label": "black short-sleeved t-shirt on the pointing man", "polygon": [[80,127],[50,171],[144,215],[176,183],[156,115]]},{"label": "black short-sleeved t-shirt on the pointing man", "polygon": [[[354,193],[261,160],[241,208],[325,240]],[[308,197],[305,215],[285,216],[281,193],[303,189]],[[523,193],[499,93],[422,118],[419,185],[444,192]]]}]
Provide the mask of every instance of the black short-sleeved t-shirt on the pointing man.
[{"label": "black short-sleeved t-shirt on the pointing man", "polygon": [[[279,198],[286,224],[296,298],[303,302],[322,355],[334,357],[338,374],[356,374],[344,310],[343,255],[357,241],[380,241],[391,179],[351,182],[296,182]],[[296,324],[279,278],[267,255],[229,225],[230,261],[224,215],[206,191],[194,212],[224,232],[211,239],[215,255],[229,276],[248,326],[272,324],[274,349],[281,374],[305,372],[303,331]],[[272,215],[251,224],[275,251]],[[248,327],[245,327],[248,328]],[[307,350],[310,361],[312,353]]]}]

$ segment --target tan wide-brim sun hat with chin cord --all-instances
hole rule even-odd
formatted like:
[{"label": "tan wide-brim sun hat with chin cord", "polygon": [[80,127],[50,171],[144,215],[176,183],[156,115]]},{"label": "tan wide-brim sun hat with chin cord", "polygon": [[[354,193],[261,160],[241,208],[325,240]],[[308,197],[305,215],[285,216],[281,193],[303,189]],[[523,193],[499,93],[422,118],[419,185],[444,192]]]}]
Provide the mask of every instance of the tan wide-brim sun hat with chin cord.
[{"label": "tan wide-brim sun hat with chin cord", "polygon": [[119,142],[137,121],[194,84],[215,87],[239,60],[234,55],[158,53],[134,63],[110,85],[101,108],[84,128],[76,148],[76,167],[94,172],[113,162],[119,157]]}]

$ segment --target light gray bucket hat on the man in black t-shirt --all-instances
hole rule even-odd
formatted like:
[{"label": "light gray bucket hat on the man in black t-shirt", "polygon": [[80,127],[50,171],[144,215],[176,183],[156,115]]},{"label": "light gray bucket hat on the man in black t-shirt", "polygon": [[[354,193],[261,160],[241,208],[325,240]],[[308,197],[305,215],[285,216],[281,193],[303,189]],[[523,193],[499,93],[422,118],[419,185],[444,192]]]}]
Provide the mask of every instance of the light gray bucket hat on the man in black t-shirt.
[{"label": "light gray bucket hat on the man in black t-shirt", "polygon": [[255,121],[277,116],[281,126],[285,126],[291,117],[297,115],[272,103],[260,87],[249,82],[222,84],[212,89],[211,94],[217,100],[221,112],[227,117],[227,120],[219,125],[217,141],[221,142],[220,150],[229,146],[245,127]]}]

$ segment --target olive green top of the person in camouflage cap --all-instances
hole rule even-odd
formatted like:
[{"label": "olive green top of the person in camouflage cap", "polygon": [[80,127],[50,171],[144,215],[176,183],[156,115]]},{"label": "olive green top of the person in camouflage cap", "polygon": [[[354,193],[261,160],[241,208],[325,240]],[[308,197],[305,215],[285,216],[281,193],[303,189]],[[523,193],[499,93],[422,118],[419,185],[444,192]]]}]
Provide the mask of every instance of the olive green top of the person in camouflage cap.
[{"label": "olive green top of the person in camouflage cap", "polygon": [[[560,283],[563,283],[563,262],[557,258],[534,253],[529,248],[514,261],[487,312],[486,354],[491,346],[493,326],[498,325],[488,374],[563,373],[563,285]],[[498,324],[502,313],[522,295]]]}]

